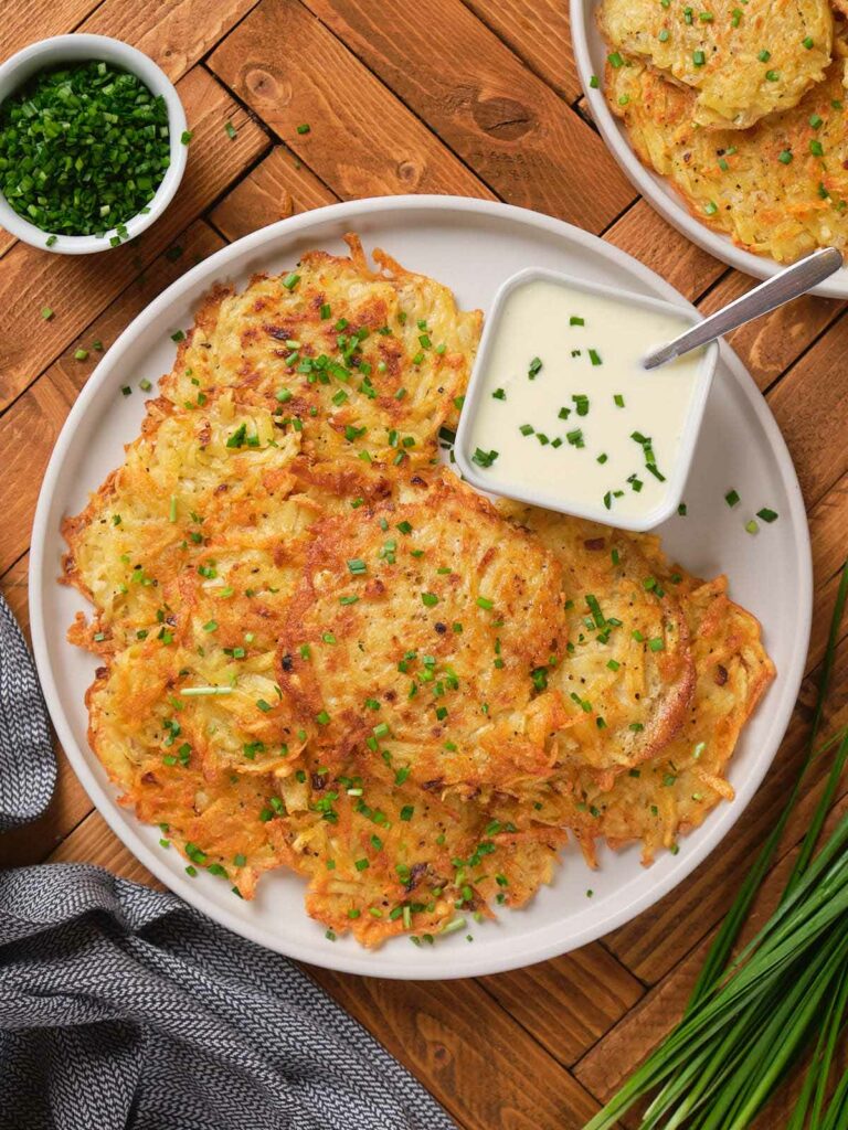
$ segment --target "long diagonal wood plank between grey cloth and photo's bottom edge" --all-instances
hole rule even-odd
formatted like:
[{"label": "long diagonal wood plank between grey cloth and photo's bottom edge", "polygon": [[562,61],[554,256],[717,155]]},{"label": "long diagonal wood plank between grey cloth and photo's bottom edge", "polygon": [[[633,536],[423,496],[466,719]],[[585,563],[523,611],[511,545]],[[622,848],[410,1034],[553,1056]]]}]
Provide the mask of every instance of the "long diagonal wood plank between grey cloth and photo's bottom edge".
[{"label": "long diagonal wood plank between grey cloth and photo's bottom edge", "polygon": [[469,1130],[577,1130],[597,1110],[474,981],[308,972]]}]

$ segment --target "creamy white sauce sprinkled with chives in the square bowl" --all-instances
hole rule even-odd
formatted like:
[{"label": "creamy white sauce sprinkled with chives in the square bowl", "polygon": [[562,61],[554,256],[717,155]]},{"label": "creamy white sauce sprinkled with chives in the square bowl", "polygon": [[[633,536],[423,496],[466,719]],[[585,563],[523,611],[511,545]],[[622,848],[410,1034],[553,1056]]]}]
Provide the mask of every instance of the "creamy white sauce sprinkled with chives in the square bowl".
[{"label": "creamy white sauce sprinkled with chives in the square bowl", "polygon": [[[650,372],[640,362],[690,324],[547,279],[517,286],[476,377],[467,457],[497,452],[488,467],[473,460],[479,479],[499,494],[544,494],[566,512],[599,506],[613,524],[616,515],[656,510],[667,497],[702,350]],[[649,470],[651,453],[665,481]]]}]

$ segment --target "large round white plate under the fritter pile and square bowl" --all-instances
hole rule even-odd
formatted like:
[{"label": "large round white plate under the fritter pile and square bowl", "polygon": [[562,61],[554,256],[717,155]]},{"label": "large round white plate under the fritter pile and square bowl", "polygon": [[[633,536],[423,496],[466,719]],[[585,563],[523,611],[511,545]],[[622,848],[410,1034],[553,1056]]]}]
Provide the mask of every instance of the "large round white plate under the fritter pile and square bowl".
[{"label": "large round white plate under the fritter pile and square bowl", "polygon": [[[433,947],[396,939],[374,953],[351,939],[326,940],[303,910],[303,884],[292,875],[262,878],[253,902],[241,902],[226,883],[201,873],[189,879],[184,860],[163,851],[155,828],[138,824],[116,803],[86,740],[84,695],[94,677],[93,657],[71,647],[66,628],[78,593],[57,584],[63,549],[59,524],[76,513],[88,490],[123,458],[142,417],[141,377],[171,368],[170,334],[188,327],[192,311],[218,279],[243,284],[261,269],[287,270],[309,247],[344,250],[344,232],[358,232],[367,249],[380,244],[405,266],[453,288],[460,305],[488,308],[501,281],[519,268],[548,267],[588,279],[630,287],[684,305],[666,282],[616,247],[536,212],[481,200],[396,197],[335,205],[283,220],[240,240],[200,263],[159,295],[124,330],[97,366],[73,406],[57,443],[35,515],[29,574],[33,643],[42,685],[59,737],[88,794],[130,851],[164,884],[236,933],[271,949],[330,968],[389,977],[456,977],[493,973],[563,954],[622,925],[684,879],[742,815],[768,770],[795,703],[807,649],[811,563],[804,505],[778,428],[753,382],[724,349],[704,418],[703,435],[686,489],[689,516],[663,530],[668,550],[706,576],[726,571],[733,596],[762,620],[779,676],[760,706],[734,758],[737,790],[692,835],[677,855],[663,854],[644,869],[639,850],[602,851],[590,873],[579,851],[569,849],[552,887],[523,911],[495,923],[473,924]],[[130,383],[131,397],[121,395]],[[743,505],[728,510],[724,495],[735,487]],[[745,514],[771,506],[779,521],[756,537],[743,528]],[[587,897],[591,887],[594,896]]]}]

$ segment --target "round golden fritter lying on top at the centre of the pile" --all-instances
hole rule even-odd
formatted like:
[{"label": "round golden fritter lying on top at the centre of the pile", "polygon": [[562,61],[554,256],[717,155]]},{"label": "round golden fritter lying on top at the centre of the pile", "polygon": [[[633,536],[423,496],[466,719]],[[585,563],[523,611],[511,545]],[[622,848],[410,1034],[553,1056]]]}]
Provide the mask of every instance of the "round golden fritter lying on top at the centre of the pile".
[{"label": "round golden fritter lying on top at the centre of the pile", "polygon": [[553,757],[564,629],[554,556],[450,471],[415,476],[315,528],[279,679],[327,764],[512,791]]}]

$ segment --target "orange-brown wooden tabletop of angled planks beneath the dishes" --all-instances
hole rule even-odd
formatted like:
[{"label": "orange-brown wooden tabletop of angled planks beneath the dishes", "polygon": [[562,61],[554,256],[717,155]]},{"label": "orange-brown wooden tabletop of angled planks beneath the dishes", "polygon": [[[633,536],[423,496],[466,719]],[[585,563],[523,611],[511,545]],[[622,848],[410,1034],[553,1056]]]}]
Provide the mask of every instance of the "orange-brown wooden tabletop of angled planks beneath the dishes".
[{"label": "orange-brown wooden tabletop of angled planks beneath the dishes", "polygon": [[[752,280],[639,200],[587,120],[566,0],[9,0],[2,58],[46,35],[118,36],[176,82],[194,139],[165,216],[107,255],[51,255],[0,233],[0,584],[26,625],[27,548],[57,434],[106,346],[231,240],[339,199],[399,192],[508,200],[603,235],[709,311]],[[232,122],[235,137],[224,130]],[[309,123],[309,133],[296,127]],[[43,321],[50,305],[55,316]],[[741,868],[803,753],[848,529],[848,320],[803,298],[734,334],[795,459],[816,615],[807,678],[777,762],[720,849],[652,911],[576,954],[473,981],[315,977],[469,1130],[579,1127],[680,1012]],[[763,562],[768,584],[768,562]],[[829,727],[848,720],[848,642]],[[0,864],[86,860],[153,881],[60,754],[47,815],[0,838]],[[784,845],[797,841],[806,798]],[[768,899],[767,899],[768,901]],[[772,1115],[771,1127],[780,1124]]]}]

